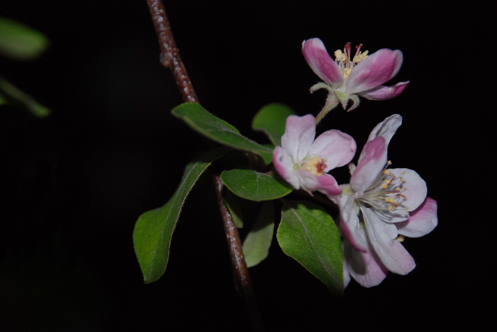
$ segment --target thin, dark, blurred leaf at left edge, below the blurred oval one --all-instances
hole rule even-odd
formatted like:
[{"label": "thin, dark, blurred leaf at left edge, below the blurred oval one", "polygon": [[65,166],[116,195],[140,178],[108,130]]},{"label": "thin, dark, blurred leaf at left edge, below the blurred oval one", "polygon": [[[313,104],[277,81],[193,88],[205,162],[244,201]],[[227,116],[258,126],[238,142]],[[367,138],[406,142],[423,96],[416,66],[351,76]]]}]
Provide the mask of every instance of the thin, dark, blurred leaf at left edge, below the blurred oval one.
[{"label": "thin, dark, blurred leaf at left edge, below the blurred oval one", "polygon": [[41,105],[30,95],[22,92],[6,80],[0,77],[0,105],[10,104],[18,107],[37,118],[45,118],[50,115],[50,109]]}]

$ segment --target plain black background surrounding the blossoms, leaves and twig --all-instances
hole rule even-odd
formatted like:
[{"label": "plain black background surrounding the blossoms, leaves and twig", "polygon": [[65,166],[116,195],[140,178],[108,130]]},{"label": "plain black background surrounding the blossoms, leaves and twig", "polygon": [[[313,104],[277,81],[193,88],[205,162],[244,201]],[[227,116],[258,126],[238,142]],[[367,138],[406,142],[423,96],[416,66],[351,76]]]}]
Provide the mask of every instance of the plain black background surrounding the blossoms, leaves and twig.
[{"label": "plain black background surrounding the blossoms, leaves and twig", "polygon": [[[324,92],[308,92],[318,77],[300,52],[304,39],[320,37],[330,52],[348,41],[404,52],[390,82],[411,80],[400,97],[336,109],[320,129],[340,129],[361,147],[377,123],[401,114],[392,167],[426,180],[439,225],[404,242],[417,262],[409,275],[390,273],[371,289],[352,281],[339,300],[273,243],[250,269],[267,331],[486,319],[495,107],[485,77],[495,9],[448,0],[166,1],[200,102],[259,142],[249,125],[264,104],[317,114],[324,103]],[[3,331],[245,331],[209,178],[187,199],[158,282],[143,283],[133,251],[137,217],[169,199],[204,146],[169,113],[182,100],[159,62],[146,1],[4,0],[0,15],[50,38],[36,61],[0,59],[0,74],[52,109],[35,119],[0,107]]]}]

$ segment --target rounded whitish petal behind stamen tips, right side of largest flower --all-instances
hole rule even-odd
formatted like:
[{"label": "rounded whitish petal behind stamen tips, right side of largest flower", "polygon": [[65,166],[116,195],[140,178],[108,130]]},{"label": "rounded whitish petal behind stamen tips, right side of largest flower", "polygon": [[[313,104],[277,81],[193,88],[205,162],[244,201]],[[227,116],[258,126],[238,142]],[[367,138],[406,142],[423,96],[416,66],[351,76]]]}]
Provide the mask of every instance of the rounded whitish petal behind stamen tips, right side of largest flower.
[{"label": "rounded whitish petal behind stamen tips, right side of largest flower", "polygon": [[428,192],[426,182],[424,182],[419,174],[412,169],[392,168],[389,169],[389,171],[390,173],[395,174],[397,179],[403,179],[402,184],[404,188],[402,195],[406,196],[406,199],[402,201],[402,204],[407,207],[406,209],[408,211],[417,209],[424,199],[426,199],[426,194]]}]

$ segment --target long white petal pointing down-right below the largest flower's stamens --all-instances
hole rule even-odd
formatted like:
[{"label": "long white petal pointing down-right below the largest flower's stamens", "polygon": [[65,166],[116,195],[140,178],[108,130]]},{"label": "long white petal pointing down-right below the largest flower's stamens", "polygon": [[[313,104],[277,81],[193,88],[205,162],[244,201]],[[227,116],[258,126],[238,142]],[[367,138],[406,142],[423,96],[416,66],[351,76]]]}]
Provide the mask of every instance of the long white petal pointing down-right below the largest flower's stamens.
[{"label": "long white petal pointing down-right below the largest flower's stamens", "polygon": [[379,219],[373,209],[361,206],[361,211],[371,247],[383,265],[397,274],[411,272],[416,264],[406,248],[395,240],[398,235],[395,224]]}]

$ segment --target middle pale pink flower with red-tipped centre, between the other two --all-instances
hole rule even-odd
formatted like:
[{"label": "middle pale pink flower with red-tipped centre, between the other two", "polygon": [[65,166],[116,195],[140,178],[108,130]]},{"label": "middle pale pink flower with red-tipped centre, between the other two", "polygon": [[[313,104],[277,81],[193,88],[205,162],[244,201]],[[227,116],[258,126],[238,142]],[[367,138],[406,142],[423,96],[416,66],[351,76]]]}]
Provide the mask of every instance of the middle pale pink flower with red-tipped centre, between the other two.
[{"label": "middle pale pink flower with red-tipped centre, between the other two", "polygon": [[328,172],[352,160],[357,148],[355,140],[338,130],[329,130],[314,139],[315,136],[314,116],[290,115],[281,146],[274,149],[274,168],[297,190],[340,195],[340,187]]}]

